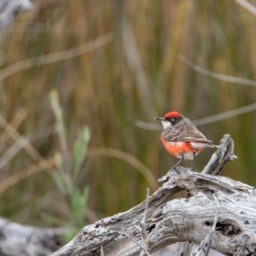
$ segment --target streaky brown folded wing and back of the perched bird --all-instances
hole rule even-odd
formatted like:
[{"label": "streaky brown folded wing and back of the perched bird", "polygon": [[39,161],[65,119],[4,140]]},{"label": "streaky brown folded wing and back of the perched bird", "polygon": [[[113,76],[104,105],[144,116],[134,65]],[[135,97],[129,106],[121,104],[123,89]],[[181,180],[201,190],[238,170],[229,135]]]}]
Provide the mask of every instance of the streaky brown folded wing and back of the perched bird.
[{"label": "streaky brown folded wing and back of the perched bird", "polygon": [[212,143],[188,120],[167,128],[162,136],[167,142]]}]

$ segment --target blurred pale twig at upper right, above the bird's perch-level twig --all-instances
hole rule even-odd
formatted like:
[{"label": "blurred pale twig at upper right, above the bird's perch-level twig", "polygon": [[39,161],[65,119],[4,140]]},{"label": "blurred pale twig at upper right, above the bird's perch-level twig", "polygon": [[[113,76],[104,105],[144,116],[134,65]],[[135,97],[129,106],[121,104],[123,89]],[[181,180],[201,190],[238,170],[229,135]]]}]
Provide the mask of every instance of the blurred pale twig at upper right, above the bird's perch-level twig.
[{"label": "blurred pale twig at upper right, above the bird's perch-level twig", "polygon": [[[235,1],[237,1],[237,0],[235,0]],[[238,77],[234,77],[234,76],[224,75],[222,73],[212,72],[212,71],[208,70],[207,68],[195,65],[195,63],[193,63],[192,61],[190,61],[188,58],[186,58],[183,55],[178,55],[178,59],[183,61],[186,65],[191,67],[196,72],[204,74],[212,79],[218,79],[218,80],[222,80],[225,82],[236,83],[236,84],[245,84],[245,85],[250,85],[250,86],[256,87],[256,81],[254,81],[254,80],[243,79],[243,78],[238,78]]]}]

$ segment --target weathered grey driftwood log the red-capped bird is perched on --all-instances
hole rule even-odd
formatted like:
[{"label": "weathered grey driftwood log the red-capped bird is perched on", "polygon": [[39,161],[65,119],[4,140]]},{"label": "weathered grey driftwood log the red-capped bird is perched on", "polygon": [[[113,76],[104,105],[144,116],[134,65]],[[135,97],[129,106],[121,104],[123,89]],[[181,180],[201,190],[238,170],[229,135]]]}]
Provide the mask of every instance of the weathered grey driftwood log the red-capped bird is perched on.
[{"label": "weathered grey driftwood log the red-capped bird is perched on", "polygon": [[[204,173],[179,166],[160,179],[164,183],[148,197],[146,238],[141,228],[147,203],[143,201],[127,212],[85,226],[51,256],[149,255],[177,241],[201,243],[191,255],[207,255],[208,244],[224,255],[253,255],[256,190],[229,177],[207,174],[218,174],[225,162],[235,160],[233,148],[226,135]],[[171,198],[181,191],[188,197]]]}]

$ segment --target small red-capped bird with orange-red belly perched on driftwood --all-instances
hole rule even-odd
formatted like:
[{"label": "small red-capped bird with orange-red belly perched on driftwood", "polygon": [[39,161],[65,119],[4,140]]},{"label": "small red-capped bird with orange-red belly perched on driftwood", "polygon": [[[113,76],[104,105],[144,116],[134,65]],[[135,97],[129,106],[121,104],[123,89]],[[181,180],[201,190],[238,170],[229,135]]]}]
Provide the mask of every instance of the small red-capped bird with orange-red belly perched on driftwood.
[{"label": "small red-capped bird with orange-red belly perched on driftwood", "polygon": [[167,152],[180,159],[172,169],[180,165],[183,160],[193,160],[193,171],[195,171],[195,155],[203,148],[217,147],[212,141],[207,140],[207,137],[198,131],[189,119],[176,111],[155,119],[160,120],[164,126],[160,138]]}]

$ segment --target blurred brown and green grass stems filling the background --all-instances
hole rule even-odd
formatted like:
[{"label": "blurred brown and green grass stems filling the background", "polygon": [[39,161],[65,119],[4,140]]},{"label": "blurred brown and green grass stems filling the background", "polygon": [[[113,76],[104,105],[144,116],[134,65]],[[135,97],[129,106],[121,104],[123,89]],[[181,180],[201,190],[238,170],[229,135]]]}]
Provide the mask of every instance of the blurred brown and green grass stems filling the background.
[{"label": "blurred brown and green grass stems filling the background", "polygon": [[[209,78],[178,59],[256,79],[255,26],[256,17],[231,0],[34,1],[32,11],[0,33],[0,216],[38,226],[52,225],[45,216],[67,222],[67,201],[53,178],[60,149],[53,89],[67,148],[79,127],[90,127],[86,175],[77,183],[90,188],[87,222],[143,201],[146,188],[153,193],[177,160],[161,146],[160,131],[137,127],[136,120],[154,123],[170,110],[201,119],[255,102],[253,86]],[[238,160],[223,175],[253,186],[255,118],[252,111],[199,127],[214,143],[230,133]],[[196,158],[197,170],[212,153],[205,149]]]}]

